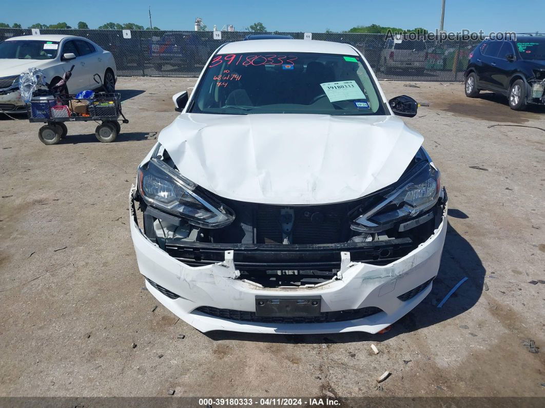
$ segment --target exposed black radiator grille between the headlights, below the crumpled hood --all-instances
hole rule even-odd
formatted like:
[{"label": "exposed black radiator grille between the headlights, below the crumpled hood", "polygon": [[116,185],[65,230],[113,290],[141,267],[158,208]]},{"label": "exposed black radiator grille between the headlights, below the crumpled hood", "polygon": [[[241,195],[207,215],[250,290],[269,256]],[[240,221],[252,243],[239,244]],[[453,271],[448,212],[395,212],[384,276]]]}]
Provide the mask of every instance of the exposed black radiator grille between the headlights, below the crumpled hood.
[{"label": "exposed black radiator grille between the headlights, below the crumpled hood", "polygon": [[[259,205],[257,208],[257,243],[282,243],[280,211],[282,206]],[[335,243],[347,240],[346,204],[293,207],[290,243]]]}]

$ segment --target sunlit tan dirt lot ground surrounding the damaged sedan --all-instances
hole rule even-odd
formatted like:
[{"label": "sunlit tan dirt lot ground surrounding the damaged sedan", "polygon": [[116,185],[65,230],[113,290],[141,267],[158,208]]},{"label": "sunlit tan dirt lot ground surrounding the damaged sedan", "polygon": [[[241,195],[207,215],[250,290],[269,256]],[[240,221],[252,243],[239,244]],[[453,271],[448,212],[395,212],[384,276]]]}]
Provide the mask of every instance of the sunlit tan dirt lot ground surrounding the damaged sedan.
[{"label": "sunlit tan dirt lot ground surrounding the damaged sedan", "polygon": [[194,82],[120,78],[130,123],[111,144],[88,123],[45,146],[38,124],[0,118],[0,395],[545,396],[545,284],[529,283],[545,279],[545,131],[489,127],[545,128],[543,109],[381,82],[429,103],[407,123],[450,199],[432,293],[380,335],[207,336],[153,311],[128,226],[136,167]]}]

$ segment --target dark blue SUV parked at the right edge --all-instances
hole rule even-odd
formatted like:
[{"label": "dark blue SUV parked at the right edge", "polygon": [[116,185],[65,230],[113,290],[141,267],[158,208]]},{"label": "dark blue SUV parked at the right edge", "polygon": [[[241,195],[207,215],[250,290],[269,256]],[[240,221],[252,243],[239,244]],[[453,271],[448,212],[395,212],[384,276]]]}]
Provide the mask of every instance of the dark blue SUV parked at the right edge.
[{"label": "dark blue SUV parked at the right edge", "polygon": [[465,95],[481,90],[507,96],[522,111],[529,103],[545,105],[545,35],[517,35],[516,40],[482,41],[469,54]]}]

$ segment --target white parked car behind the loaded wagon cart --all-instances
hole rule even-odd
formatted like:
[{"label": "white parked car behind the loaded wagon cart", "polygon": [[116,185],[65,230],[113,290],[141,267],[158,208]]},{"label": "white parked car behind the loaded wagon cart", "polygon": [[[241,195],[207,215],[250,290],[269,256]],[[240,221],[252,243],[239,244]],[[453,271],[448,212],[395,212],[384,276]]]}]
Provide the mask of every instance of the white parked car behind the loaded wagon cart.
[{"label": "white parked car behind the loaded wagon cart", "polygon": [[110,52],[86,38],[72,35],[26,35],[0,43],[0,111],[25,112],[19,94],[19,75],[28,68],[44,72],[47,83],[56,83],[75,65],[68,90],[101,87],[93,77],[99,74],[107,92],[116,89],[116,62]]}]

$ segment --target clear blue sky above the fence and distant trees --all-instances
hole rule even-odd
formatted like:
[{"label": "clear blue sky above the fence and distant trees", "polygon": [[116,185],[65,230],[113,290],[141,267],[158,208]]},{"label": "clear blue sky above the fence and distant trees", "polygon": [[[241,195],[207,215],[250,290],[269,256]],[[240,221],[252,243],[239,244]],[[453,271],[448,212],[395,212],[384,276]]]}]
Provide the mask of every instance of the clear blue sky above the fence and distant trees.
[{"label": "clear blue sky above the fence and distant trees", "polygon": [[[401,28],[439,26],[441,0],[1,0],[0,22],[28,27],[34,23],[61,21],[74,27],[85,21],[90,28],[105,22],[134,22],[161,29],[193,29],[195,17],[212,29],[232,24],[243,30],[261,21],[269,31],[323,32],[326,28],[342,31],[358,25],[376,23]],[[52,4],[56,4],[54,7]],[[446,0],[445,29],[460,31],[545,32],[545,0]],[[541,10],[541,11],[539,11]]]}]

